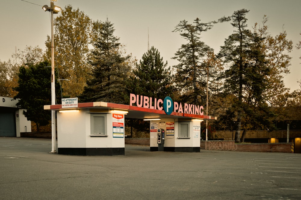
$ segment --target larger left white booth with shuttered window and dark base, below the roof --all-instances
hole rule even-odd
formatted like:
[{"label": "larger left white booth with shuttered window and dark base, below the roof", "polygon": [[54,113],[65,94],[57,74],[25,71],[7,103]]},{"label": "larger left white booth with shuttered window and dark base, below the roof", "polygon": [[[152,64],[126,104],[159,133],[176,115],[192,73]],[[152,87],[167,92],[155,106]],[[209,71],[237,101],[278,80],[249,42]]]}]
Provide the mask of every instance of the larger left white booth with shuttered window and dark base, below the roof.
[{"label": "larger left white booth with shuttered window and dark base, below the roof", "polygon": [[124,115],[118,115],[120,119],[117,121],[121,122],[114,124],[116,118],[108,110],[90,112],[90,109],[81,109],[77,112],[57,112],[58,153],[124,155]]}]

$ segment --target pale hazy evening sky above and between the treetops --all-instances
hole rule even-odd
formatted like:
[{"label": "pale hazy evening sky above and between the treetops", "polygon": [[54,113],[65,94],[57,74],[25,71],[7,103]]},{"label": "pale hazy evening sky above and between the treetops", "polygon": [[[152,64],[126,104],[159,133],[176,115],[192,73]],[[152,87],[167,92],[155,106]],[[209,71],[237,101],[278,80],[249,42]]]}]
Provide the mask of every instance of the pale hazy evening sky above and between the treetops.
[{"label": "pale hazy evening sky above and between the treetops", "polygon": [[[189,23],[196,18],[209,22],[244,8],[250,10],[246,15],[248,29],[252,29],[255,22],[261,23],[267,15],[272,36],[285,30],[294,46],[301,40],[300,0],[57,0],[54,4],[62,8],[70,4],[94,21],[105,21],[108,17],[114,24],[114,35],[138,61],[147,52],[149,38],[149,46],[158,49],[163,61],[171,67],[178,64],[171,58],[181,44],[186,43],[178,32],[172,31],[184,19]],[[24,50],[26,46],[39,46],[45,49],[46,37],[51,35],[51,19],[50,13],[42,10],[43,5],[50,6],[50,0],[1,0],[2,62],[15,60],[11,57],[15,48]],[[54,18],[58,15],[60,13],[54,14]],[[201,40],[218,53],[233,30],[229,22],[215,24],[201,34]],[[290,74],[285,75],[284,83],[293,91],[300,89],[297,80],[301,80],[301,49],[294,47],[289,55],[292,57]]]}]

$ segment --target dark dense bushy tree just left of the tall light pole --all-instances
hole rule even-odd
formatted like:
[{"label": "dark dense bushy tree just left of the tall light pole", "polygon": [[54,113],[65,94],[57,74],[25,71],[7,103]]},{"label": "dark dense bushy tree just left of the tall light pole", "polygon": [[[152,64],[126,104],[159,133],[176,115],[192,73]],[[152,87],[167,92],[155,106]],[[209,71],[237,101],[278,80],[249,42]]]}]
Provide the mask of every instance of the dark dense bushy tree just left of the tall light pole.
[{"label": "dark dense bushy tree just left of the tall light pole", "polygon": [[[19,99],[17,106],[25,109],[25,117],[36,123],[37,131],[40,126],[49,124],[51,112],[44,110],[44,105],[51,104],[51,65],[48,61],[19,69],[19,85],[14,88],[18,93],[14,99]],[[57,71],[55,74],[57,77]],[[55,82],[56,98],[61,100],[61,89]],[[60,102],[59,102],[60,103]]]}]

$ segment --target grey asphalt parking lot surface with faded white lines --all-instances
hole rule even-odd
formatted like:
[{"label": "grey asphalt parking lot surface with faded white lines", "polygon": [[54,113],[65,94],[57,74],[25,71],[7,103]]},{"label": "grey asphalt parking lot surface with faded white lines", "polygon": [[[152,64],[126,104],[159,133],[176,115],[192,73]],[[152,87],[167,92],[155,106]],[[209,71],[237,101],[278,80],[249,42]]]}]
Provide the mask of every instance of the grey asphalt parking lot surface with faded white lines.
[{"label": "grey asphalt parking lot surface with faded white lines", "polygon": [[301,199],[301,154],[50,154],[50,139],[0,137],[0,199]]}]

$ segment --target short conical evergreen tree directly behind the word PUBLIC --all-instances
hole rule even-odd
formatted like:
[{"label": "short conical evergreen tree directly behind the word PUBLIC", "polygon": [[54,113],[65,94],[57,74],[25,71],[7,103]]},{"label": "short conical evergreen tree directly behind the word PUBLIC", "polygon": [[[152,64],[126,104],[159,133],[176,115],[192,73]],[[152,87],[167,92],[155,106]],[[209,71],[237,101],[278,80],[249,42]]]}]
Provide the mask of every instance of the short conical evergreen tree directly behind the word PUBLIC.
[{"label": "short conical evergreen tree directly behind the word PUBLIC", "polygon": [[134,76],[128,82],[129,92],[147,97],[164,99],[172,95],[170,67],[164,64],[160,52],[154,46],[143,54]]}]

